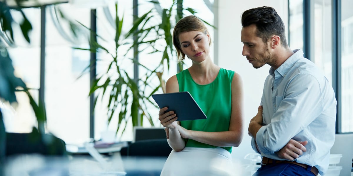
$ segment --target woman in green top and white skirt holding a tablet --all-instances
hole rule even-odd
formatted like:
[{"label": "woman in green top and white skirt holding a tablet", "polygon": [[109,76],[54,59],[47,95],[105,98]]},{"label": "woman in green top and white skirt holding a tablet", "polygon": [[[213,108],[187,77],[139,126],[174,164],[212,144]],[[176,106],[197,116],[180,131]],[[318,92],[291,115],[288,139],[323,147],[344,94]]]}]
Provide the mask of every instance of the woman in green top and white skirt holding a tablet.
[{"label": "woman in green top and white skirt holding a tablet", "polygon": [[177,23],[173,44],[178,59],[187,56],[192,65],[168,79],[166,93],[190,92],[207,119],[176,121],[178,114],[160,109],[159,120],[173,149],[161,175],[233,175],[232,146],[239,146],[243,136],[241,78],[212,62],[211,37],[198,17]]}]

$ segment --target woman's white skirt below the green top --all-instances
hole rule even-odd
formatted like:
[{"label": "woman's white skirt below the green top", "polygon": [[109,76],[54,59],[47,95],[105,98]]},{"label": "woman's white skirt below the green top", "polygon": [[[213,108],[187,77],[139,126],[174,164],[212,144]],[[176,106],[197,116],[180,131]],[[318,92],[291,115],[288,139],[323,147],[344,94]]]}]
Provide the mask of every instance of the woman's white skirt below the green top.
[{"label": "woman's white skirt below the green top", "polygon": [[185,147],[170,152],[161,176],[235,176],[234,168],[231,153],[223,148]]}]

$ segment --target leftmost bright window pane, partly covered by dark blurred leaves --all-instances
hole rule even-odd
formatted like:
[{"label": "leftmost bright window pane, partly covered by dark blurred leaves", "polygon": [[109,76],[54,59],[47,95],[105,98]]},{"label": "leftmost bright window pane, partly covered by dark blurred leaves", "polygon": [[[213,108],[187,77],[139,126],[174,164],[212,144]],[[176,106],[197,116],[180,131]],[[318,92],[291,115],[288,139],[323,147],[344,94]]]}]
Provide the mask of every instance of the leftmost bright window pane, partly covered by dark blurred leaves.
[{"label": "leftmost bright window pane, partly covered by dark blurred leaves", "polygon": [[[18,25],[13,25],[15,46],[7,48],[15,69],[15,75],[21,77],[27,87],[31,88],[30,93],[38,102],[38,89],[40,88],[40,8],[26,8],[23,10],[26,17],[32,24],[33,30],[29,33],[31,43],[26,42],[20,34]],[[11,12],[16,23],[23,20],[18,11]],[[17,92],[18,105],[11,109],[11,113],[4,115],[4,123],[7,132],[29,133],[32,127],[36,126],[35,114],[29,105],[29,99],[23,92]]]}]

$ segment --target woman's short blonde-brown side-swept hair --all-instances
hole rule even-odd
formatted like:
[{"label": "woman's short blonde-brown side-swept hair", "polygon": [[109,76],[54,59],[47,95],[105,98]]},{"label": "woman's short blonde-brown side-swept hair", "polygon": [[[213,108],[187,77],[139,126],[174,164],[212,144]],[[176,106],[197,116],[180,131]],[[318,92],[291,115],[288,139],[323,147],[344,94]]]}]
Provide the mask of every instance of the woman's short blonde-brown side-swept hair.
[{"label": "woman's short blonde-brown side-swept hair", "polygon": [[[177,25],[175,25],[173,31],[173,45],[177,50],[178,61],[182,61],[185,59],[185,54],[183,53],[183,51],[181,51],[179,34],[190,31],[200,31],[204,34],[208,34],[207,27],[200,18],[194,15],[190,15],[180,19]],[[211,45],[211,37],[209,45]]]}]

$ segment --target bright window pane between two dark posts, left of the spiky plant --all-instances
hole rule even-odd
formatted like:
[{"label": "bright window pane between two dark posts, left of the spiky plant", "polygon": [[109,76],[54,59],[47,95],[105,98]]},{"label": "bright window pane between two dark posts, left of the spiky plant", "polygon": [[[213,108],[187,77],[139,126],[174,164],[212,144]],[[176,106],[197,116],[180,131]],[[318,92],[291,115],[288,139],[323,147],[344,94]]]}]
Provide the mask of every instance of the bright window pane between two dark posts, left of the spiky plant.
[{"label": "bright window pane between two dark posts, left of the spiky plant", "polygon": [[44,90],[48,131],[72,144],[90,137],[90,74],[86,71],[79,77],[90,63],[90,52],[72,48],[89,48],[89,44],[84,36],[72,34],[68,20],[89,27],[90,9],[68,3],[46,7]]}]

